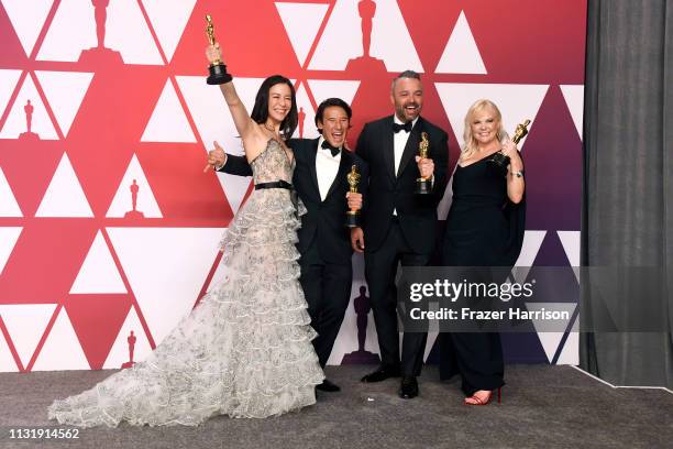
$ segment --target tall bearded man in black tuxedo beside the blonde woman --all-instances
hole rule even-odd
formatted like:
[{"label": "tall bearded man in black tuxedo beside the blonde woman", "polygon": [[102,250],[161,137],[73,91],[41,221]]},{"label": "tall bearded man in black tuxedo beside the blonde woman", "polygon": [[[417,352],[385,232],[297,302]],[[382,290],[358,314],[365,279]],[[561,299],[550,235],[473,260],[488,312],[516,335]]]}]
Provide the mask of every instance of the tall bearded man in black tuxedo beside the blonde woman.
[{"label": "tall bearded man in black tuxedo beside the blonde woman", "polygon": [[[427,333],[405,332],[401,359],[397,329],[395,275],[402,266],[427,265],[437,238],[437,206],[446,186],[448,135],[420,117],[420,76],[404,72],[393,80],[395,114],[366,123],[355,149],[369,167],[364,229],[351,231],[353,249],[365,253],[365,276],[374,311],[382,364],[363,382],[402,377],[400,397],[418,395]],[[428,157],[418,154],[421,132],[430,142]],[[431,191],[415,195],[416,179],[431,179]],[[364,182],[367,184],[367,182]],[[366,240],[366,247],[365,247]]]}]

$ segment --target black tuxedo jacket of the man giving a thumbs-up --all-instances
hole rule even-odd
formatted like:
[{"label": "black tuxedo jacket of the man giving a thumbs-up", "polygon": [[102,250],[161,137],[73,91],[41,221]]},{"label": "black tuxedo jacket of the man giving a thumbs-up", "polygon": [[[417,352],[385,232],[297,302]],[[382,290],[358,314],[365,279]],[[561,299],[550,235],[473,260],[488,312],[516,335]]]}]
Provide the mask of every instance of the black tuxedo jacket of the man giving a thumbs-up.
[{"label": "black tuxedo jacket of the man giving a thumbs-up", "polygon": [[[306,215],[301,216],[297,248],[304,256],[312,244],[317,244],[323,262],[350,265],[352,255],[351,234],[349,228],[344,227],[347,210],[345,194],[349,191],[346,174],[351,171],[352,165],[356,165],[362,179],[366,179],[367,166],[357,155],[349,151],[342,151],[339,172],[324,201],[321,200],[316,172],[318,141],[319,139],[290,139],[287,142],[297,161],[293,185],[308,210]],[[228,154],[227,163],[220,168],[220,172],[241,176],[252,175],[247,160],[244,156],[233,156],[231,154]],[[360,187],[360,191],[364,196],[365,183],[361,183]],[[304,262],[310,261],[302,259]]]}]

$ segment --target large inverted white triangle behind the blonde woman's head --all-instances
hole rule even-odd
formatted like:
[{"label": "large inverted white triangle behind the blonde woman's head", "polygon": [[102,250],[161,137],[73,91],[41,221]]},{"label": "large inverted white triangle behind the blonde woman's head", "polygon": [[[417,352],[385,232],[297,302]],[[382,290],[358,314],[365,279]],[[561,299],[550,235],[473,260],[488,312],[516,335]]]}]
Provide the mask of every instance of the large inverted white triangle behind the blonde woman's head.
[{"label": "large inverted white triangle behind the blonde woman's head", "polygon": [[[547,95],[549,85],[517,85],[517,84],[465,84],[465,83],[435,83],[446,117],[455,138],[463,144],[463,130],[465,113],[478,99],[487,98],[495,102],[503,114],[503,125],[510,135],[518,123],[530,119],[530,131],[536,124],[536,117]],[[523,149],[527,138],[519,143]]]}]

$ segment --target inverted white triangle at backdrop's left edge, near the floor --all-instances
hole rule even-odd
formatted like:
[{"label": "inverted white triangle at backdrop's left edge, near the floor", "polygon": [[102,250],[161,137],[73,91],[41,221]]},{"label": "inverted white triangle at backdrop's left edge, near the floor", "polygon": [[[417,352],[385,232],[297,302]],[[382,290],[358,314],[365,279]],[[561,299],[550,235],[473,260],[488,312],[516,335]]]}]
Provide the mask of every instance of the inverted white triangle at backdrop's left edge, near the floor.
[{"label": "inverted white triangle at backdrop's left edge, near the floor", "polygon": [[54,315],[55,304],[1,305],[0,317],[19,353],[23,368],[27,365]]}]

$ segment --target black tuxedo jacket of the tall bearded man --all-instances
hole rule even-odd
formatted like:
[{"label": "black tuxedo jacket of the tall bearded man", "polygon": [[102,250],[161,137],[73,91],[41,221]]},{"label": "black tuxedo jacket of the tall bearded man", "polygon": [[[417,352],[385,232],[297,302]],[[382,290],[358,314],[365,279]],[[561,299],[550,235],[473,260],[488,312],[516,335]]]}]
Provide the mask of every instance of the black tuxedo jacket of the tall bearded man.
[{"label": "black tuxedo jacket of the tall bearded man", "polygon": [[[383,244],[393,210],[397,209],[399,225],[413,251],[430,254],[435,244],[437,206],[446,187],[448,135],[419,117],[395,174],[393,120],[389,116],[366,123],[357,139],[357,155],[369,168],[367,208],[364,210],[365,250],[376,251]],[[416,179],[420,177],[416,155],[422,131],[428,133],[430,142],[428,157],[434,162],[434,182],[431,194],[415,195]]]}]

